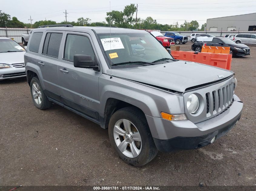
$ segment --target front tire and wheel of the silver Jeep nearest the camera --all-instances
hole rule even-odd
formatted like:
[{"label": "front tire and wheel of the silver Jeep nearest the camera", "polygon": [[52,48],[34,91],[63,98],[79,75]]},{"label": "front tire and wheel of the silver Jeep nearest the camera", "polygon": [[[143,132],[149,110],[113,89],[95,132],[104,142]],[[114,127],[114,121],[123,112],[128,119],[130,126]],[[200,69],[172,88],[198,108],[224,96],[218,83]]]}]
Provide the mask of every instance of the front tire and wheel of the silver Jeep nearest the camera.
[{"label": "front tire and wheel of the silver Jeep nearest the camera", "polygon": [[108,135],[115,152],[127,164],[143,166],[158,152],[145,114],[135,107],[122,108],[111,116]]}]

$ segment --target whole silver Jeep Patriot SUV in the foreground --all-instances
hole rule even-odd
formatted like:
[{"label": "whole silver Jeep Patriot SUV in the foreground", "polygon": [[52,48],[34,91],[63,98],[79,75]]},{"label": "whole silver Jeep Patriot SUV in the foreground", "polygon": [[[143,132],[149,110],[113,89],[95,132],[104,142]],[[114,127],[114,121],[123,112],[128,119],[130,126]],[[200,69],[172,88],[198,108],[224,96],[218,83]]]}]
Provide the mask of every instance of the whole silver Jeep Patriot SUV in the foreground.
[{"label": "whole silver Jeep Patriot SUV in the foreground", "polygon": [[28,41],[25,70],[36,107],[54,102],[108,129],[134,166],[158,150],[211,144],[242,113],[233,72],[175,60],[143,30],[42,26]]}]

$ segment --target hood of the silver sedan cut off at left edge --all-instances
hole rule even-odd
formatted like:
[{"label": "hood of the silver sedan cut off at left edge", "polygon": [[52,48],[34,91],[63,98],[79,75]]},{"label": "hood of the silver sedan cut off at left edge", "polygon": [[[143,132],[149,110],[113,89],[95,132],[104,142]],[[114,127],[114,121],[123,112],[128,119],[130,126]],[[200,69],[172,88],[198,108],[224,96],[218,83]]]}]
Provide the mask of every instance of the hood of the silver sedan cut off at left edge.
[{"label": "hood of the silver sedan cut off at left edge", "polygon": [[3,64],[17,64],[24,63],[24,52],[14,52],[14,53],[0,53],[0,63]]}]

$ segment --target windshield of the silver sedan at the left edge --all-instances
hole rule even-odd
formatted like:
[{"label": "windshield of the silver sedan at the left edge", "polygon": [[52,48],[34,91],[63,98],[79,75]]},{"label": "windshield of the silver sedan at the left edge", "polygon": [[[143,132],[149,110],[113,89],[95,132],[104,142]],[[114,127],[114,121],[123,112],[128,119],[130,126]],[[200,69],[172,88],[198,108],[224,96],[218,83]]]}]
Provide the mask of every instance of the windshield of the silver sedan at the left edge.
[{"label": "windshield of the silver sedan at the left edge", "polygon": [[0,53],[23,52],[25,49],[12,39],[0,39]]}]

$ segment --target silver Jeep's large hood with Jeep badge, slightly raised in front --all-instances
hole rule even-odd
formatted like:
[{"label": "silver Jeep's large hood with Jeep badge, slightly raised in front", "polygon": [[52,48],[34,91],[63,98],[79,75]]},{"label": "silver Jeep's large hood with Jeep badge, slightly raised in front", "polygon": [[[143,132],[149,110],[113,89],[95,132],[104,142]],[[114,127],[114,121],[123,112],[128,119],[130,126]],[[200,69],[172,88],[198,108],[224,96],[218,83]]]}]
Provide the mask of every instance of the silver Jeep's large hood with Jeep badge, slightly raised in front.
[{"label": "silver Jeep's large hood with Jeep badge, slightly raised in front", "polygon": [[[164,67],[165,66],[165,67]],[[218,81],[234,74],[232,71],[188,61],[175,61],[137,68],[107,70],[107,74],[141,83],[184,92],[187,88]],[[223,78],[222,78],[223,79]]]}]

